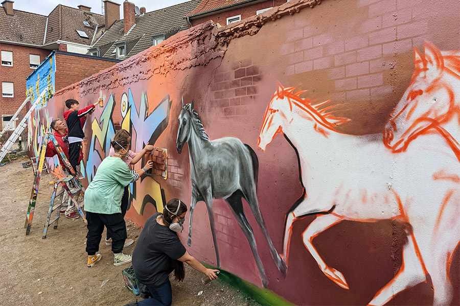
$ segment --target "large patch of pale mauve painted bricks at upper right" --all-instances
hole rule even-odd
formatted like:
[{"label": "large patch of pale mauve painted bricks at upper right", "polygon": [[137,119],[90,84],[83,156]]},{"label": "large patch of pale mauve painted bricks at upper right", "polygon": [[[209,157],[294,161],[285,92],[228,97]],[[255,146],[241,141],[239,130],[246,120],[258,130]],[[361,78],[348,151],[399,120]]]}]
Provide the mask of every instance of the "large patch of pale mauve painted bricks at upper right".
[{"label": "large patch of pale mauve painted bricks at upper right", "polygon": [[428,17],[409,1],[358,0],[353,5],[365,16],[358,31],[337,35],[301,20],[281,45],[282,60],[287,75],[324,70],[334,83],[335,100],[378,100],[393,90],[384,75],[395,68],[394,56],[423,46]]}]

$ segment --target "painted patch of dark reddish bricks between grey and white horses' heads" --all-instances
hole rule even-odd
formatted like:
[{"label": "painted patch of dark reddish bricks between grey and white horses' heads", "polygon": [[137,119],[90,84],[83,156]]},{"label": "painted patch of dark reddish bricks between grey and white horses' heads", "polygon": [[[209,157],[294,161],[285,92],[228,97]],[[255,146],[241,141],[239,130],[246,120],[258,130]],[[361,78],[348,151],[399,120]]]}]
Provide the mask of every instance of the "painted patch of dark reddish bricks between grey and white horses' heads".
[{"label": "painted patch of dark reddish bricks between grey and white horses' heads", "polygon": [[256,98],[259,73],[251,59],[233,63],[230,71],[218,72],[210,88],[212,107],[223,109],[226,117],[245,115],[246,106]]}]

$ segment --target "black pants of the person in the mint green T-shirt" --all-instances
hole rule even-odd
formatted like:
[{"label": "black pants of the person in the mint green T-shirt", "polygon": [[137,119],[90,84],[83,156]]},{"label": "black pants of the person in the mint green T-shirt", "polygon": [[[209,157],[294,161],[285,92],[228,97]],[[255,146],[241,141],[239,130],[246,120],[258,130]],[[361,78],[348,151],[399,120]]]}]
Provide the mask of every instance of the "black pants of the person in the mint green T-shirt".
[{"label": "black pants of the person in the mint green T-shirt", "polygon": [[88,234],[86,235],[86,252],[88,256],[93,256],[99,251],[104,225],[107,232],[112,237],[112,252],[120,253],[123,250],[126,238],[126,224],[122,214],[98,214],[86,212],[88,221]]}]

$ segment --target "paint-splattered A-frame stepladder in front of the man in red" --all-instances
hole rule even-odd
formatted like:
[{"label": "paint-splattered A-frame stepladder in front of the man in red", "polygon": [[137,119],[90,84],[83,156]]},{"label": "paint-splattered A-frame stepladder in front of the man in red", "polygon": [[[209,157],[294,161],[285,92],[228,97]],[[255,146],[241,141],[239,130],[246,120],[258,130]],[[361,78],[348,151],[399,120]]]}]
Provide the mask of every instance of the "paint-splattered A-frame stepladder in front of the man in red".
[{"label": "paint-splattered A-frame stepladder in front of the man in red", "polygon": [[[37,202],[37,196],[38,196],[38,187],[40,185],[40,179],[41,179],[41,172],[43,170],[43,164],[45,162],[45,152],[47,150],[48,146],[48,140],[51,140],[52,144],[56,148],[56,151],[58,151],[59,158],[64,162],[65,166],[67,169],[69,169],[72,173],[72,176],[75,179],[75,183],[77,186],[80,188],[80,190],[83,188],[83,185],[81,184],[80,180],[78,179],[77,173],[75,172],[74,168],[71,166],[70,162],[68,161],[67,157],[64,155],[64,152],[62,151],[61,146],[57,142],[56,138],[54,135],[50,132],[45,133],[45,136],[43,138],[43,141],[41,143],[41,149],[40,149],[40,155],[39,155],[39,160],[38,160],[38,168],[37,171],[35,171],[35,177],[34,177],[34,184],[32,186],[32,192],[30,195],[30,201],[29,201],[29,208],[27,210],[26,214],[26,223],[24,224],[24,227],[26,228],[26,235],[30,234],[30,228],[32,226],[32,220],[34,217],[34,210],[35,210],[35,204]],[[66,188],[66,185],[64,184],[64,189]],[[67,188],[68,189],[68,188]],[[54,200],[53,200],[54,202]],[[76,201],[74,201],[74,204]],[[85,225],[87,225],[87,221],[85,218],[85,215],[83,214],[83,211],[79,208],[78,204],[75,206],[78,210],[78,213],[80,216],[83,218],[83,221],[85,222]]]}]

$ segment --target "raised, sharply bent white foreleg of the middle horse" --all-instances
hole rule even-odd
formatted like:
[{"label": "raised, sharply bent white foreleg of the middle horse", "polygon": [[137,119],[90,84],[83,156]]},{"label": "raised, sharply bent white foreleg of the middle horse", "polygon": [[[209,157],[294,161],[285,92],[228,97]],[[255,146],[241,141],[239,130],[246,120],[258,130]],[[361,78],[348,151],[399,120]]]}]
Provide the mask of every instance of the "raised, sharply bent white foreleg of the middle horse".
[{"label": "raised, sharply bent white foreleg of the middle horse", "polygon": [[339,217],[335,214],[319,215],[310,223],[310,225],[308,225],[307,229],[302,234],[302,237],[305,247],[310,251],[311,255],[316,260],[316,263],[318,264],[321,271],[323,271],[327,277],[329,277],[334,283],[343,289],[350,289],[343,274],[334,268],[328,267],[312,243],[316,236],[342,220],[342,217]]}]

